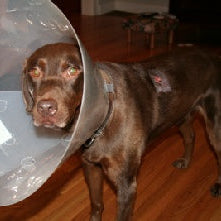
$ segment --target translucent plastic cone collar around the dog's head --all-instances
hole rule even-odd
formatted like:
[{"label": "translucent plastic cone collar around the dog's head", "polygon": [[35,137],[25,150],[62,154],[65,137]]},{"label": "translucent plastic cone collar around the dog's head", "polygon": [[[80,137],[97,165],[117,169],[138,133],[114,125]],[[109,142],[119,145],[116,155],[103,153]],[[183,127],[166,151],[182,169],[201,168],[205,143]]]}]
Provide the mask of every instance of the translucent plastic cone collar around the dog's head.
[{"label": "translucent plastic cone collar around the dog's head", "polygon": [[[108,94],[101,73],[61,11],[45,0],[6,0],[0,7],[0,206],[25,199],[104,122]],[[33,126],[22,101],[25,58],[49,43],[76,42],[84,92],[73,134]]]}]

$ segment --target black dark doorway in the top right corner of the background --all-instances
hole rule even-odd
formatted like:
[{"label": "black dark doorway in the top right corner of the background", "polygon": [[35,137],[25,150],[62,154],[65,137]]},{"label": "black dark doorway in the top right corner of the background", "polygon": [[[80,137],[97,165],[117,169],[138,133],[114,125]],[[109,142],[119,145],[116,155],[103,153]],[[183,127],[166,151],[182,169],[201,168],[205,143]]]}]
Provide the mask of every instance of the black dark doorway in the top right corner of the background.
[{"label": "black dark doorway in the top right corner of the background", "polygon": [[221,45],[221,1],[170,0],[170,13],[180,20],[179,42]]}]

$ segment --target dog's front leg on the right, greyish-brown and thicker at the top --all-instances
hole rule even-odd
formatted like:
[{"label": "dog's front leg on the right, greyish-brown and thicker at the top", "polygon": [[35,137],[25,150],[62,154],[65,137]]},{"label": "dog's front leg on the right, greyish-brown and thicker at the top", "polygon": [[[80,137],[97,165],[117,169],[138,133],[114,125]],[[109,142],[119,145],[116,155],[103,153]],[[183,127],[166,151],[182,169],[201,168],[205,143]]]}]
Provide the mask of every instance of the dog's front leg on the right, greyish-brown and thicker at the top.
[{"label": "dog's front leg on the right, greyish-brown and thicker at the top", "polygon": [[[105,168],[110,181],[117,189],[117,221],[132,220],[133,207],[136,198],[137,182],[136,176],[140,165],[140,156],[137,150],[130,150],[107,160]],[[124,156],[121,158],[120,156]],[[121,159],[121,160],[120,160]]]}]

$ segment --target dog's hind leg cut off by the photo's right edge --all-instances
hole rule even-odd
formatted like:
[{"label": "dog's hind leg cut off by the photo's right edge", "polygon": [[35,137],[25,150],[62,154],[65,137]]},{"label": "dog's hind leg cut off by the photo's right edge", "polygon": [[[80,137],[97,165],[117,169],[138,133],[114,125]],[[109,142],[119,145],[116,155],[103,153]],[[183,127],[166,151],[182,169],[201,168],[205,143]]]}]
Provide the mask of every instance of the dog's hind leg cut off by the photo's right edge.
[{"label": "dog's hind leg cut off by the photo's right edge", "polygon": [[216,90],[205,97],[202,108],[209,140],[218,162],[218,179],[211,188],[211,194],[218,197],[221,196],[221,92]]}]

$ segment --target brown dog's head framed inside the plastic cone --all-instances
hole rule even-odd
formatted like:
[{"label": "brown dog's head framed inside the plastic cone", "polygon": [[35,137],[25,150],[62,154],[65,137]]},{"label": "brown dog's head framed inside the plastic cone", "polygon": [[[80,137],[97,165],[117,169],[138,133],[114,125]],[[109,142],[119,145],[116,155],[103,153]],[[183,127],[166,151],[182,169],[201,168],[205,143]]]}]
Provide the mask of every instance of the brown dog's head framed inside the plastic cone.
[{"label": "brown dog's head framed inside the plastic cone", "polygon": [[37,49],[23,70],[23,97],[34,125],[66,128],[79,112],[83,67],[78,46],[57,43]]}]

